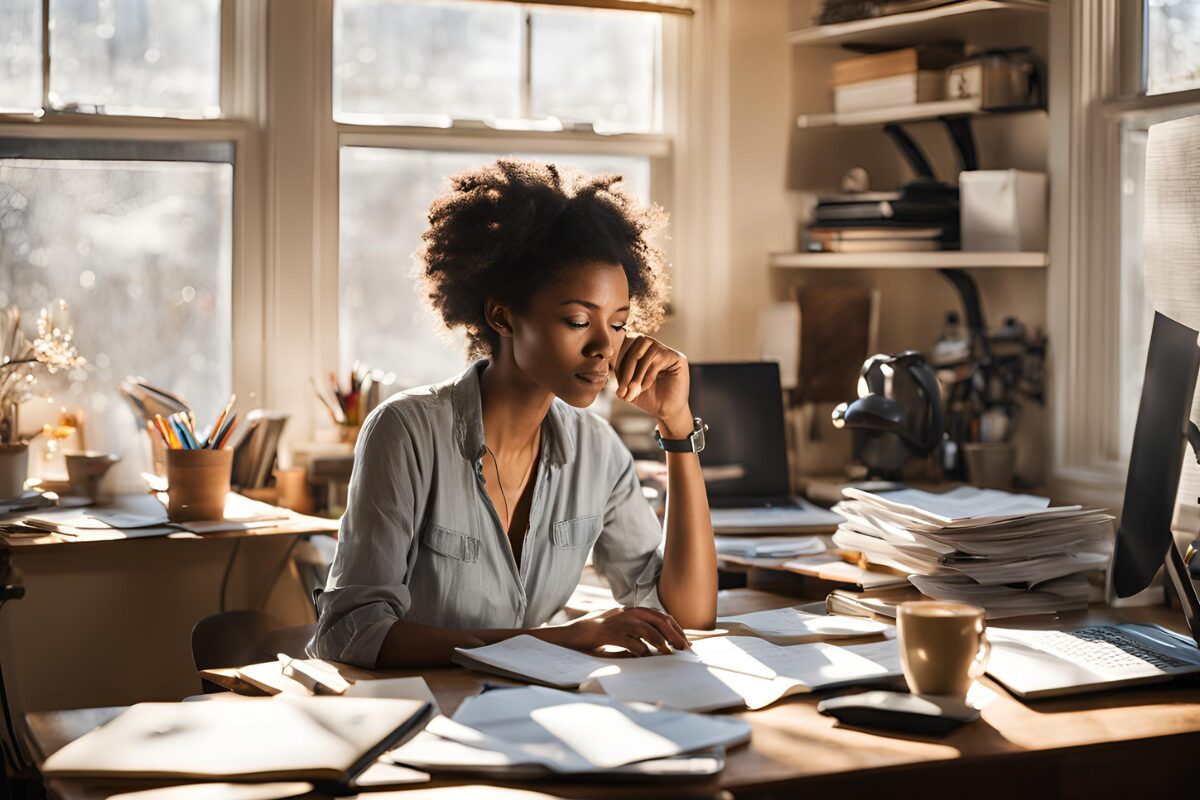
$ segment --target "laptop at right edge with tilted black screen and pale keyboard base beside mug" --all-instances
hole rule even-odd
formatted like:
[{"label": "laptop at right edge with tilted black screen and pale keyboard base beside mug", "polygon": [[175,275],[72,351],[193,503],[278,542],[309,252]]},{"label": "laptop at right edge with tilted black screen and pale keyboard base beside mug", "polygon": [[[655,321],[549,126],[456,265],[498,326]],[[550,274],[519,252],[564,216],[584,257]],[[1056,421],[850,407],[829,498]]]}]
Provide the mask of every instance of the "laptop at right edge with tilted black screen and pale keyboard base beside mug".
[{"label": "laptop at right edge with tilted black screen and pale keyboard base beside mug", "polygon": [[989,627],[988,674],[1014,694],[1038,699],[1200,674],[1200,602],[1170,534],[1200,369],[1196,337],[1190,327],[1154,314],[1112,564],[1117,594],[1129,596],[1145,589],[1165,561],[1193,634],[1158,625]]}]

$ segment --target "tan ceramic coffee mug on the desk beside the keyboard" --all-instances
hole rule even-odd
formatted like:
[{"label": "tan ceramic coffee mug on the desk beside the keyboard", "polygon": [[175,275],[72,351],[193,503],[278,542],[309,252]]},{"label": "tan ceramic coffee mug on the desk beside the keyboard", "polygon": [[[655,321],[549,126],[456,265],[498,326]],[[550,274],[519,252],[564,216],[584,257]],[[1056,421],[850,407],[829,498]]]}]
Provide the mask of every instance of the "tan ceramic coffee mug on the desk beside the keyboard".
[{"label": "tan ceramic coffee mug on the desk beside the keyboard", "polygon": [[966,697],[988,667],[984,610],[968,603],[918,600],[896,613],[900,663],[913,694]]}]

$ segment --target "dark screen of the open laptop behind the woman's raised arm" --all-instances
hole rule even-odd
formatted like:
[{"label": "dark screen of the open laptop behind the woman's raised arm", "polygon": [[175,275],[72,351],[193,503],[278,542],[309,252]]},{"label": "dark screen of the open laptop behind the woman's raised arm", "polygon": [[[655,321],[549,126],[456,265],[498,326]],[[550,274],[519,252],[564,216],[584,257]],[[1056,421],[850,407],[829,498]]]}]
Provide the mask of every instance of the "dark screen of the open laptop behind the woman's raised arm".
[{"label": "dark screen of the open laptop behind the woman's raised arm", "polygon": [[710,498],[785,497],[787,437],[774,361],[692,363],[691,411],[709,426],[700,463]]}]

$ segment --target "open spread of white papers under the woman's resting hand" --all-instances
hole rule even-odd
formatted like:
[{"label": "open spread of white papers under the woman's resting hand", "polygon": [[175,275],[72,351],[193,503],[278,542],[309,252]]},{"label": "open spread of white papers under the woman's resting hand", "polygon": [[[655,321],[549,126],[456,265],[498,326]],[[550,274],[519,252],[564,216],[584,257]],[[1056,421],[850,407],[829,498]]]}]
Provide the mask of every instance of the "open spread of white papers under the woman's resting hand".
[{"label": "open spread of white papers under the woman's resting hand", "polygon": [[900,675],[895,640],[838,646],[781,646],[766,639],[722,636],[688,651],[642,658],[604,658],[517,636],[460,649],[454,661],[558,688],[600,691],[622,702],[680,711],[761,709],[788,694],[877,682]]}]

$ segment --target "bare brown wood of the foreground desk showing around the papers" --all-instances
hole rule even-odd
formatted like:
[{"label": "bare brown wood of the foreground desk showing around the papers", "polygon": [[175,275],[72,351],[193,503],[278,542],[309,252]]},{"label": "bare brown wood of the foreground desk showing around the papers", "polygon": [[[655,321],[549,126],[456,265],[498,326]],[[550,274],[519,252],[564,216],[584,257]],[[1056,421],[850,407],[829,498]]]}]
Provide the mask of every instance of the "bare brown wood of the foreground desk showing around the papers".
[{"label": "bare brown wood of the foreground desk showing around the papers", "polygon": [[[794,597],[738,589],[721,593],[720,612],[736,614],[796,602]],[[1157,621],[1178,628],[1177,615],[1165,608],[1098,608],[1057,624]],[[412,674],[418,673],[386,673]],[[500,680],[458,668],[431,669],[424,675],[446,714],[478,692],[484,680]],[[1200,686],[1130,688],[1026,704],[989,680],[983,685],[995,697],[983,709],[982,721],[944,739],[840,728],[816,711],[817,702],[827,694],[793,696],[761,711],[738,714],[754,728],[751,741],[731,751],[725,771],[708,781],[613,783],[602,789],[570,781],[512,786],[570,798],[727,798],[726,793],[732,793],[738,798],[805,800],[871,795],[1094,800],[1194,792],[1190,762],[1200,748]],[[29,727],[46,756],[95,727],[104,714],[31,714]],[[425,786],[462,784],[437,780]],[[54,789],[62,798],[103,796],[67,782],[56,782]]]}]

